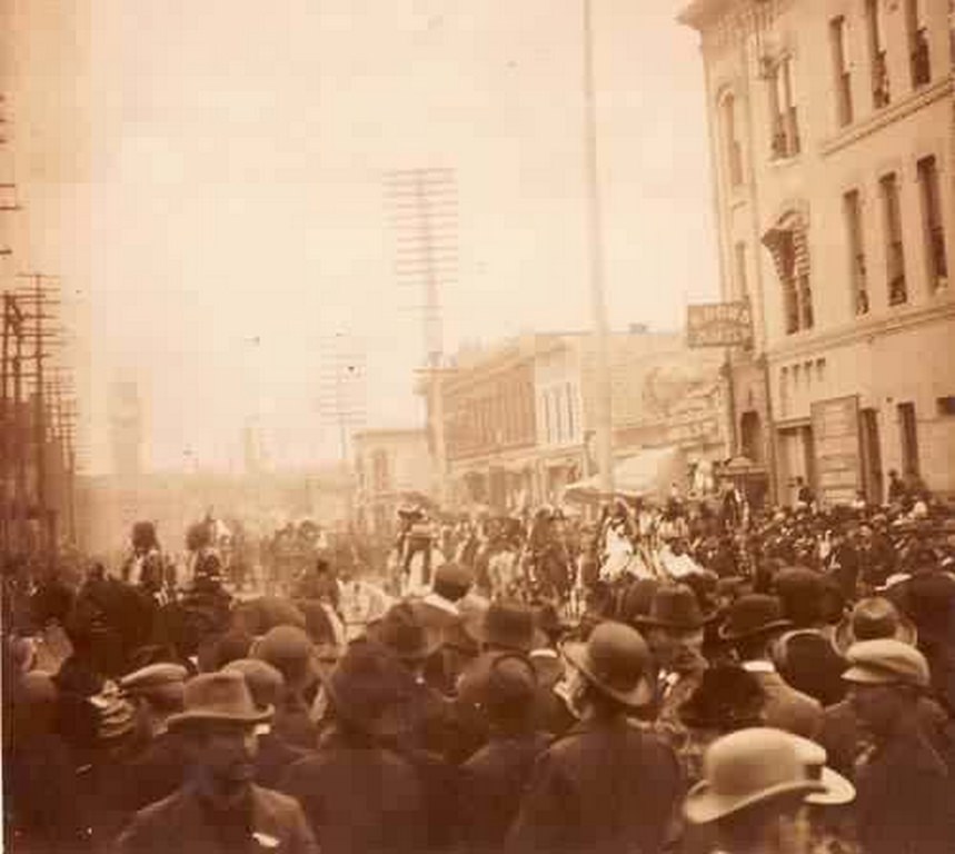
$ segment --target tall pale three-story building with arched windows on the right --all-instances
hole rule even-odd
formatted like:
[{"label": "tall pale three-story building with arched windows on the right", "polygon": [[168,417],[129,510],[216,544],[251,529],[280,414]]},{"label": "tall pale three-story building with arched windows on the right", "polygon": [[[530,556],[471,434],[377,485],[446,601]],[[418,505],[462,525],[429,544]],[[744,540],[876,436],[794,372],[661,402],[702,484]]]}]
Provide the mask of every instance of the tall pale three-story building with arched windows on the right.
[{"label": "tall pale three-story building with arched windows on the right", "polygon": [[742,449],[829,500],[955,490],[947,0],[696,0]]}]

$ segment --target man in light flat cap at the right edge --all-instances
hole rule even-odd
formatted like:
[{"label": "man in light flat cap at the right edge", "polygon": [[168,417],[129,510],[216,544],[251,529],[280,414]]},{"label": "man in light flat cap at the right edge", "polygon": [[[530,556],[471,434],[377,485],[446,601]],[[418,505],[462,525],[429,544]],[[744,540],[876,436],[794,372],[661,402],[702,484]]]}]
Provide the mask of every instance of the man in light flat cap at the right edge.
[{"label": "man in light flat cap at the right edge", "polygon": [[955,781],[918,714],[929,686],[925,656],[894,638],[848,651],[849,703],[875,747],[856,774],[856,825],[865,854],[942,854],[955,841]]}]

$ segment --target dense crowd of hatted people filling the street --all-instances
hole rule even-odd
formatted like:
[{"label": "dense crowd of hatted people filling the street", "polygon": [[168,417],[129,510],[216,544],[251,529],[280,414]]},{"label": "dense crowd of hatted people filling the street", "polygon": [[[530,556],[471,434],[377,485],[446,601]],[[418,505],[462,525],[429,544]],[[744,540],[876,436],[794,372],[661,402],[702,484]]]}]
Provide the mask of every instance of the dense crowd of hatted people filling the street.
[{"label": "dense crowd of hatted people filling the street", "polygon": [[955,519],[620,500],[236,596],[8,574],[13,852],[955,851]]}]

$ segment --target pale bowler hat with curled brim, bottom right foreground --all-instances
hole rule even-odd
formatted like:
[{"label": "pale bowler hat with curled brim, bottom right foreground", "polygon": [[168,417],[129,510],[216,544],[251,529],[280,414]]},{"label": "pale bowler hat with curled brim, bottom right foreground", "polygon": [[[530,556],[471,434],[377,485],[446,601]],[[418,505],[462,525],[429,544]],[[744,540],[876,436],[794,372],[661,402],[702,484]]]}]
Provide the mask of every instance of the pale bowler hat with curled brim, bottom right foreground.
[{"label": "pale bowler hat with curled brim, bottom right foreground", "polygon": [[684,814],[694,824],[709,824],[742,810],[785,795],[826,791],[813,779],[789,733],[753,727],[715,741],[704,755],[704,778],[687,794]]}]

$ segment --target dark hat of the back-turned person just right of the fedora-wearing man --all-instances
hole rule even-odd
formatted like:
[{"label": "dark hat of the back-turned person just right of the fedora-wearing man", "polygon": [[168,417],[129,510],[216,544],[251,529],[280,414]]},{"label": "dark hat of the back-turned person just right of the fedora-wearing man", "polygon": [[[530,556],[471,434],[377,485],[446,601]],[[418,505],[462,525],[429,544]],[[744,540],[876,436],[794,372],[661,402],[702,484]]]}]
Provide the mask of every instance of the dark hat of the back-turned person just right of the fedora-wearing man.
[{"label": "dark hat of the back-turned person just right of the fedora-wearing man", "polygon": [[381,645],[359,639],[322,682],[342,723],[367,735],[390,737],[409,723],[412,678]]}]

